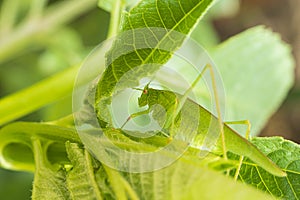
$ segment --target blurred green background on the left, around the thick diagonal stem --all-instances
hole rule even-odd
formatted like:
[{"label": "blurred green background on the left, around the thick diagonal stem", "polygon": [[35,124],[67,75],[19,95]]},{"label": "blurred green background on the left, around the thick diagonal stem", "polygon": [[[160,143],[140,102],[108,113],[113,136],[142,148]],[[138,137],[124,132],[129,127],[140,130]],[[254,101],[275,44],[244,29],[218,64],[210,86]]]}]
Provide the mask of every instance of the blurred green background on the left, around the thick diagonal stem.
[{"label": "blurred green background on the left, around the thick diagonal stem", "polygon": [[[24,16],[28,14],[33,2],[34,0],[0,1],[2,22],[7,22],[3,19],[3,17],[7,18],[4,16],[4,12],[8,11],[7,8],[4,9],[5,6],[10,8],[6,15],[10,15],[9,12],[12,12],[12,7],[16,9],[14,25],[8,31],[9,33],[18,31],[22,23],[26,23]],[[76,4],[77,2],[45,1],[46,5],[41,11],[41,15],[46,15],[52,6],[62,7],[64,6],[62,3]],[[39,31],[38,34],[27,38],[26,45],[16,48],[15,52],[3,57],[1,57],[1,48],[5,50],[4,42],[9,41],[11,35],[5,33],[3,28],[5,26],[0,26],[0,97],[12,94],[67,67],[78,64],[97,44],[106,38],[109,13],[99,9],[96,0],[89,2],[92,3],[83,9],[78,9],[78,14],[72,15],[66,23],[53,28],[50,27],[46,32]],[[64,14],[64,10],[62,10],[62,14]],[[66,97],[62,101],[19,120],[48,121],[57,119],[71,112],[70,101],[71,97]],[[32,181],[33,174],[31,173],[0,168],[0,199],[30,199]]]}]

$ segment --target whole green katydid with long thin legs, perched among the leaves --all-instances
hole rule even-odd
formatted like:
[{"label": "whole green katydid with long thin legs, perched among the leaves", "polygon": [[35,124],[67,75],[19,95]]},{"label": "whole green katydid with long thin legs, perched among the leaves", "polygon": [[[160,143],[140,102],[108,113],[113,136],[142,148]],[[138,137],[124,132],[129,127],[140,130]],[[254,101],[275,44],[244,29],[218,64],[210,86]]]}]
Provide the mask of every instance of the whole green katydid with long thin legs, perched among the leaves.
[{"label": "whole green katydid with long thin legs, perched among the leaves", "polygon": [[[212,82],[214,82],[213,71],[210,65],[207,65],[202,73],[197,77],[197,79],[193,82],[191,87],[183,94],[175,94],[172,91],[168,90],[158,90],[149,87],[147,84],[144,89],[138,89],[142,91],[141,96],[138,99],[138,104],[140,107],[148,105],[148,108],[144,111],[137,112],[131,114],[125,123],[121,126],[123,129],[127,122],[134,117],[152,113],[152,117],[155,120],[158,120],[159,124],[165,130],[164,135],[170,140],[173,139],[172,130],[181,120],[181,110],[186,108],[190,111],[191,116],[189,117],[189,121],[191,120],[199,120],[197,130],[197,136],[202,137],[207,133],[209,126],[214,124],[218,131],[220,131],[221,137],[219,137],[217,141],[217,145],[222,147],[222,154],[224,159],[227,159],[227,151],[240,155],[239,165],[236,170],[235,179],[237,179],[239,170],[243,161],[243,157],[246,156],[250,158],[252,161],[257,163],[259,166],[264,168],[266,171],[272,173],[276,176],[285,176],[285,172],[283,172],[277,165],[275,165],[268,157],[266,157],[262,152],[260,152],[252,143],[250,143],[247,139],[241,137],[238,133],[236,133],[233,129],[231,129],[228,124],[244,124],[247,125],[247,133],[246,137],[248,137],[250,132],[250,123],[245,121],[237,121],[237,122],[228,122],[224,123],[220,118],[220,108],[218,107],[218,96],[216,93],[216,88],[213,83],[214,93],[215,93],[215,102],[217,104],[217,113],[218,117],[214,116],[208,110],[206,110],[201,105],[195,103],[194,101],[188,98],[188,93],[195,87],[196,83],[201,79],[205,70],[210,69]],[[160,105],[159,107],[155,105]],[[163,109],[161,109],[163,108]],[[194,110],[199,110],[198,114],[200,117],[193,117],[192,113]],[[163,112],[162,112],[163,111]],[[162,117],[163,116],[163,117]],[[183,116],[182,116],[183,117]]]}]

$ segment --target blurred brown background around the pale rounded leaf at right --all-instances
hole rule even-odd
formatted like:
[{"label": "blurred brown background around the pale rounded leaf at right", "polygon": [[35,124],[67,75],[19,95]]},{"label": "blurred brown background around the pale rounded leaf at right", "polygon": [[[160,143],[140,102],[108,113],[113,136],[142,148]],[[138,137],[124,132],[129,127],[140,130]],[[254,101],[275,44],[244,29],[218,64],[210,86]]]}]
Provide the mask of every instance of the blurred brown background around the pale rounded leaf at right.
[{"label": "blurred brown background around the pale rounded leaf at right", "polygon": [[[300,143],[300,1],[241,0],[237,15],[215,21],[221,40],[249,27],[264,24],[291,45],[296,61],[295,85],[280,109],[262,131],[263,136],[283,136]],[[284,66],[283,66],[284,67]]]}]

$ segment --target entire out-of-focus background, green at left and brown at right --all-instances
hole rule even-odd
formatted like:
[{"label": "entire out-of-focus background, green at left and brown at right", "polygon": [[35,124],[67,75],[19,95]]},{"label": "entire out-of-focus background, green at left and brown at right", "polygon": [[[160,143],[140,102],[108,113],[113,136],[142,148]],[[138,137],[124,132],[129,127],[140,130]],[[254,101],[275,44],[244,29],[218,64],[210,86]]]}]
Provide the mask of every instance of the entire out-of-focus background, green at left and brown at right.
[{"label": "entire out-of-focus background, green at left and brown at right", "polygon": [[[63,6],[70,8],[72,4],[80,2],[84,2],[85,6],[79,6],[76,12],[70,11],[69,15],[66,14],[67,9],[60,9]],[[275,32],[279,32],[293,48],[298,66],[295,86],[279,111],[270,119],[262,135],[282,135],[299,143],[300,14],[297,11],[300,9],[300,1],[242,0],[240,4],[237,4],[238,0],[230,2],[232,3],[230,8],[228,6],[225,8],[226,4],[223,5],[224,15],[217,14],[213,21],[206,21],[209,23],[208,26],[212,25],[211,31],[215,31],[212,35],[218,36],[213,38],[214,40],[223,41],[249,27],[265,24]],[[98,8],[96,0],[0,0],[0,5],[0,97],[74,66],[106,38],[109,13]],[[58,25],[49,27],[43,24],[44,21],[36,20],[57,13],[62,15],[61,23]],[[7,43],[18,38],[18,34],[25,36],[28,34],[22,29],[24,24],[32,25],[29,26],[29,30],[37,30],[36,33],[27,35],[23,41],[12,45],[12,49],[8,51]],[[71,97],[67,96],[64,100],[20,120],[57,119],[71,112],[70,102]],[[0,199],[29,199],[32,180],[33,175],[30,173],[0,169]]]}]

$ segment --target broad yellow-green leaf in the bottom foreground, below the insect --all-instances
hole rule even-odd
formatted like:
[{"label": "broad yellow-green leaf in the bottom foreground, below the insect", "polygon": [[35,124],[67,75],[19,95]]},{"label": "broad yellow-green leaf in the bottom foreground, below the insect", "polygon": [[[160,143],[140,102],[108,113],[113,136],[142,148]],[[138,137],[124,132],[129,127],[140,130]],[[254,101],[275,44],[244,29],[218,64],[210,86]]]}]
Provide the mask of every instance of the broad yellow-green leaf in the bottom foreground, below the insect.
[{"label": "broad yellow-green leaf in the bottom foreground, below the insect", "polygon": [[140,199],[272,199],[196,163],[180,159],[159,171],[125,177]]}]

